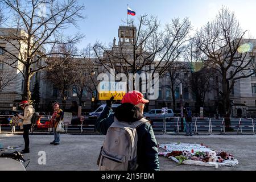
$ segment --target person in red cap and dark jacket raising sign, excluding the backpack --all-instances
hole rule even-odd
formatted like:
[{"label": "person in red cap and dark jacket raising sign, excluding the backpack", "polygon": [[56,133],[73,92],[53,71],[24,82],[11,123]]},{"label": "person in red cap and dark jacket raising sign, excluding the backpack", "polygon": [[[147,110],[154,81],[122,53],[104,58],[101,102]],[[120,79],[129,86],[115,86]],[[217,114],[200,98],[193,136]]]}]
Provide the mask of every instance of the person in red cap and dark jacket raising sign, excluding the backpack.
[{"label": "person in red cap and dark jacket raising sign, excluding the backpack", "polygon": [[[137,122],[143,118],[144,105],[149,101],[144,99],[143,94],[138,91],[131,91],[125,94],[122,105],[112,113],[112,97],[106,103],[105,109],[95,123],[96,130],[106,135],[114,118],[122,122]],[[137,171],[158,171],[158,144],[150,122],[144,122],[137,128]]]}]

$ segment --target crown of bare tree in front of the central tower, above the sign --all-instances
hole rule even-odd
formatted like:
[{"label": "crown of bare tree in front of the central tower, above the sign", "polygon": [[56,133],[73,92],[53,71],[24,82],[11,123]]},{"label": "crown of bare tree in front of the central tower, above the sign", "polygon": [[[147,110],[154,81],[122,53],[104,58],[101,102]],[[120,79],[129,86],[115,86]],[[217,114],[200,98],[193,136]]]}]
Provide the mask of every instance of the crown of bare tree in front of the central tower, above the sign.
[{"label": "crown of bare tree in front of the central tower, above the sign", "polygon": [[[179,49],[187,41],[187,35],[191,30],[188,19],[178,18],[166,24],[164,31],[160,31],[160,24],[155,16],[148,18],[147,15],[142,15],[137,27],[134,26],[133,21],[129,24],[130,26],[125,27],[125,35],[121,35],[123,40],[118,45],[94,46],[98,60],[108,72],[119,65],[127,77],[129,73],[134,74],[139,71],[153,74],[157,71],[162,76],[171,66],[171,61],[179,56]],[[155,63],[156,59],[159,60],[158,63]],[[146,66],[150,65],[153,66],[146,70]],[[117,69],[115,72],[117,73]],[[134,82],[135,77],[133,84]]]}]

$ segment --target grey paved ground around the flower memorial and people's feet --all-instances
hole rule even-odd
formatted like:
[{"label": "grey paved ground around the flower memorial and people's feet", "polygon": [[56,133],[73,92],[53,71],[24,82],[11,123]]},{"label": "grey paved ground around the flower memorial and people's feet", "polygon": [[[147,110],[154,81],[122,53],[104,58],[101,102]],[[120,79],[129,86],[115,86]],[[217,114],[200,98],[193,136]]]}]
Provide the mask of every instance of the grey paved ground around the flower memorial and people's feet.
[{"label": "grey paved ground around the flower memorial and people's feet", "polygon": [[[62,171],[62,170],[97,170],[97,158],[100,147],[104,142],[104,135],[61,135],[61,144],[52,146],[53,135],[31,135],[30,154],[25,154],[26,159],[30,159],[27,170],[35,171]],[[213,150],[224,150],[233,154],[240,162],[234,167],[201,167],[201,166],[176,166],[175,162],[160,157],[160,169],[162,171],[183,171],[183,170],[255,170],[256,158],[256,137],[254,135],[207,135],[207,136],[175,136],[175,135],[156,135],[160,144],[174,142],[183,143],[204,143]],[[1,134],[0,143],[3,146],[19,146],[23,144],[22,135]],[[21,148],[23,149],[23,148]],[[39,151],[46,152],[46,165],[39,165]]]}]

